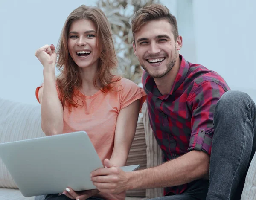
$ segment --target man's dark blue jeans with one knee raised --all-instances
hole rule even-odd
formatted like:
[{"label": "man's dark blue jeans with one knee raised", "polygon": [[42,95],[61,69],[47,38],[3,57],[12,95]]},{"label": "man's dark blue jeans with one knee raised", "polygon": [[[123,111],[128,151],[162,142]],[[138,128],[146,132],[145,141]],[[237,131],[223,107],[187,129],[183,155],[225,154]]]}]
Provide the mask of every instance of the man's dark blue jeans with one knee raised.
[{"label": "man's dark blue jeans with one knee raised", "polygon": [[255,103],[246,93],[227,91],[214,113],[209,188],[192,184],[183,194],[154,200],[240,200],[255,151]]}]

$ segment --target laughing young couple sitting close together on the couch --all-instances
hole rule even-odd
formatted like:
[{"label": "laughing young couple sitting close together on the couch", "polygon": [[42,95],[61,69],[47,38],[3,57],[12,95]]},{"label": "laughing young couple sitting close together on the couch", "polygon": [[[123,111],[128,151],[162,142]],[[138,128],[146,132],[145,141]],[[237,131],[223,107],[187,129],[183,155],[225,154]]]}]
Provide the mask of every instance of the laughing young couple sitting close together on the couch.
[{"label": "laughing young couple sitting close together on the couch", "polygon": [[[239,199],[256,150],[253,100],[179,54],[182,37],[165,6],[142,8],[131,23],[144,90],[114,75],[111,26],[96,7],[82,5],[69,15],[56,50],[45,45],[36,51],[44,66],[44,83],[36,89],[42,130],[47,136],[85,130],[105,168],[91,173],[97,190],[67,188],[35,199],[124,200],[128,189],[160,187],[157,200]],[[119,166],[145,99],[164,162],[124,172]]]}]

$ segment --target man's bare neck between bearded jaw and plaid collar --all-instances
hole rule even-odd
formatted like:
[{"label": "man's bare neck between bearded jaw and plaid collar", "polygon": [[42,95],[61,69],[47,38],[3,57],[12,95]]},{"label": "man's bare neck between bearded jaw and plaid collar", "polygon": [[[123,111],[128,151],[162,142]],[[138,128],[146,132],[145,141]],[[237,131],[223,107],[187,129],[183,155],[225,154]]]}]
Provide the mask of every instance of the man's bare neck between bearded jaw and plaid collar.
[{"label": "man's bare neck between bearded jaw and plaid collar", "polygon": [[172,67],[172,69],[164,75],[162,78],[154,78],[154,81],[157,85],[157,89],[160,91],[162,95],[169,94],[172,85],[174,84],[175,78],[180,70],[180,58],[178,56],[175,65]]}]

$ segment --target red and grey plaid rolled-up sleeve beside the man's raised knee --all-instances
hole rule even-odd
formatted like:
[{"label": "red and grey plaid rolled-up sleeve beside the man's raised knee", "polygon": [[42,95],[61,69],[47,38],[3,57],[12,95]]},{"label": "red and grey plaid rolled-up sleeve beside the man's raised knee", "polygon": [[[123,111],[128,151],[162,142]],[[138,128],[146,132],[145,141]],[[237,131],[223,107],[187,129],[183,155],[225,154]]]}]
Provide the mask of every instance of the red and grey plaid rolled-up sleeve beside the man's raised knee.
[{"label": "red and grey plaid rolled-up sleeve beside the man's raised knee", "polygon": [[189,99],[192,108],[192,133],[188,151],[198,150],[211,154],[213,115],[217,102],[224,93],[224,88],[213,81],[204,82],[192,93]]}]

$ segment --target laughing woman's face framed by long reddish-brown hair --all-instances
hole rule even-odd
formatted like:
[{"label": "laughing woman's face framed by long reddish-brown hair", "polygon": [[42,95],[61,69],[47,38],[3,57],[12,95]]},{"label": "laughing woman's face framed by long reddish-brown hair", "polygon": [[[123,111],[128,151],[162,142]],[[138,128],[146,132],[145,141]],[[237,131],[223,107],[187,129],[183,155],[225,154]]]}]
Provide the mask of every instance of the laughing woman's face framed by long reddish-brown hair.
[{"label": "laughing woman's face framed by long reddish-brown hair", "polygon": [[90,20],[74,21],[68,32],[67,46],[71,58],[81,67],[98,67],[99,48],[96,26]]}]

